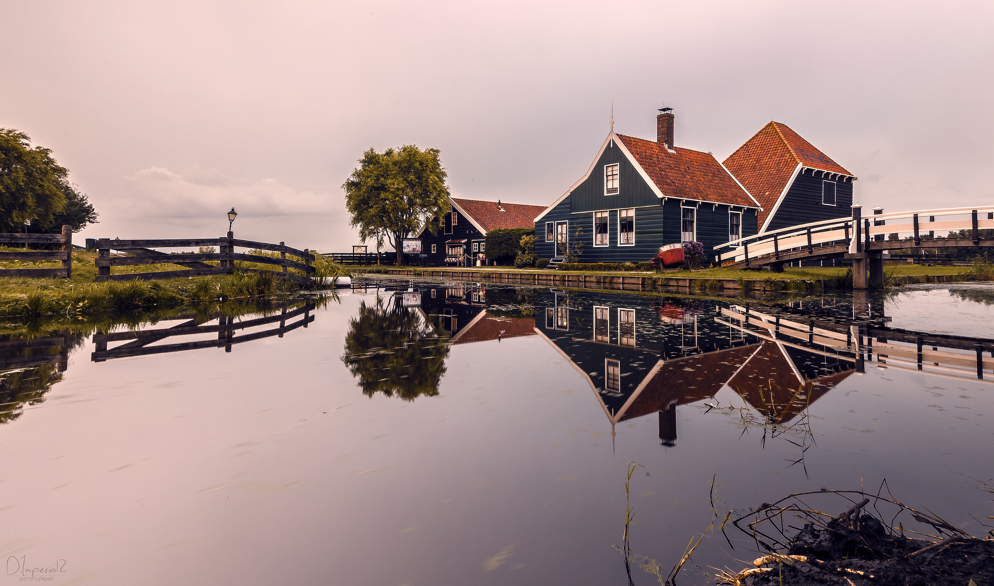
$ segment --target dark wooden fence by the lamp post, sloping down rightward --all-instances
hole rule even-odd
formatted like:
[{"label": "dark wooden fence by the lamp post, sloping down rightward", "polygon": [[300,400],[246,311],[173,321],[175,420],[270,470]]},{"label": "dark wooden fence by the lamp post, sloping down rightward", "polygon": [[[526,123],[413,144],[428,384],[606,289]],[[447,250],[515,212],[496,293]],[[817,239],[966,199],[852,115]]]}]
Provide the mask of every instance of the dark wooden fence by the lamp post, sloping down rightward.
[{"label": "dark wooden fence by the lamp post, sloping down rightward", "polygon": [[[191,248],[191,247],[218,247],[217,253],[179,253],[168,254],[152,250],[153,248]],[[249,255],[247,253],[236,253],[235,248],[248,248],[279,253],[279,258],[263,257],[260,255]],[[314,255],[307,249],[297,250],[286,246],[285,243],[269,244],[265,242],[253,242],[250,240],[238,240],[233,238],[231,232],[227,237],[221,238],[186,238],[167,240],[108,240],[101,238],[96,241],[97,258],[96,281],[153,281],[158,279],[182,279],[186,277],[200,277],[204,275],[230,275],[235,270],[235,261],[245,261],[247,263],[260,263],[274,265],[280,268],[279,272],[273,271],[273,275],[284,279],[289,279],[300,285],[313,285],[312,275],[317,271],[311,262]],[[111,257],[110,251],[128,253],[127,257]],[[293,255],[303,259],[303,263],[291,261],[286,255]],[[210,261],[220,261],[220,267],[209,265]],[[122,273],[111,275],[111,267],[128,267],[136,265],[161,265],[172,263],[186,267],[186,271],[154,271],[147,273]],[[289,273],[288,269],[297,269],[304,273],[303,276]],[[256,271],[253,269],[241,269],[242,271]]]}]

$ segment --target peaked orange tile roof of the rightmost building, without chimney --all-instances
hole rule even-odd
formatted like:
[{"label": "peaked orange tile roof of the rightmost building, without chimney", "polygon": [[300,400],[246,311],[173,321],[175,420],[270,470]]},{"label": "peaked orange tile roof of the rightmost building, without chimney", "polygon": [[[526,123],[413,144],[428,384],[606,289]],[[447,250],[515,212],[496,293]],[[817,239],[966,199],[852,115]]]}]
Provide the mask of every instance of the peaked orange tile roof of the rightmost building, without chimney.
[{"label": "peaked orange tile roof of the rightmost building, without chimney", "polygon": [[725,159],[725,166],[762,206],[760,228],[798,163],[830,173],[853,175],[780,122],[763,126]]}]

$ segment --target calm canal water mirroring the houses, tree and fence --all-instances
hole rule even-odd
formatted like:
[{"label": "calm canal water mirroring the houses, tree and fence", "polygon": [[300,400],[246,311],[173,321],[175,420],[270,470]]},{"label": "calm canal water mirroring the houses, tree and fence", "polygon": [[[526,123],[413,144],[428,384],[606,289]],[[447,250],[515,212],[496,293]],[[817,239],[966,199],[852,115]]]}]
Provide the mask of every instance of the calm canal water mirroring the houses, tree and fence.
[{"label": "calm canal water mirroring the houses, tree and fence", "polygon": [[[994,358],[973,339],[994,338],[994,287],[772,302],[367,283],[141,334],[0,336],[0,586],[32,568],[627,584],[629,462],[631,550],[664,574],[716,515],[795,491],[886,479],[976,535],[994,515]],[[680,583],[754,557],[726,529]]]}]

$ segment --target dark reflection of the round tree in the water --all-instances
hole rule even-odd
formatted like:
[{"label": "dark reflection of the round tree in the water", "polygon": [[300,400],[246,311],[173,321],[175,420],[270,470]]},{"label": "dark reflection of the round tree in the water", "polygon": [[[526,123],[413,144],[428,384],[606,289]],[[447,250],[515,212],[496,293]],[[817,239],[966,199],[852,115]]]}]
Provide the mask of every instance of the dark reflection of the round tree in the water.
[{"label": "dark reflection of the round tree in the water", "polygon": [[342,361],[369,397],[378,392],[396,393],[405,401],[432,397],[445,373],[448,337],[439,336],[417,308],[400,306],[399,300],[363,301],[345,336]]}]

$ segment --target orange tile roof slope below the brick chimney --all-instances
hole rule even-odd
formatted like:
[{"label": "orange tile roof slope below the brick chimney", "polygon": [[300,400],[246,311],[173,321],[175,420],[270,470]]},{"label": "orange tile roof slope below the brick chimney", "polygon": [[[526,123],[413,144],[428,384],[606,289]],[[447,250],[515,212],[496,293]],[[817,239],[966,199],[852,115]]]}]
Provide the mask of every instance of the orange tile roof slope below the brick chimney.
[{"label": "orange tile roof slope below the brick chimney", "polygon": [[676,147],[671,152],[652,140],[616,134],[645,174],[667,197],[756,207],[736,180],[707,152]]}]

